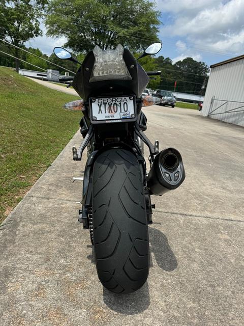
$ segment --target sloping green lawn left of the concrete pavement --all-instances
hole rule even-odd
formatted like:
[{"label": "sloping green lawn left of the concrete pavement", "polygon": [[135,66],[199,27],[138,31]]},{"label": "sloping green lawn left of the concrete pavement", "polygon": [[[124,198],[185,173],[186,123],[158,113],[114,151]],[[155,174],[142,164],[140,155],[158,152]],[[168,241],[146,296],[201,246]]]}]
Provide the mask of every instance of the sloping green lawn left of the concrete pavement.
[{"label": "sloping green lawn left of the concrete pavement", "polygon": [[0,223],[78,130],[74,99],[0,67]]}]

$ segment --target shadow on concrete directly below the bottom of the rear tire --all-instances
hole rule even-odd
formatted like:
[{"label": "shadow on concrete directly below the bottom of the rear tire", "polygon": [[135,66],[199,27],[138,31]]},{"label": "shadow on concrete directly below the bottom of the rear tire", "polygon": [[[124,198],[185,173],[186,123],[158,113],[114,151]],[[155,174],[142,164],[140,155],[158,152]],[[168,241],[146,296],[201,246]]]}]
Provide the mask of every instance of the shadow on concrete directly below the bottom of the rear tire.
[{"label": "shadow on concrete directly below the bottom of the rear tire", "polygon": [[108,308],[124,315],[135,315],[146,310],[150,304],[147,282],[138,291],[116,294],[103,288],[103,301]]}]

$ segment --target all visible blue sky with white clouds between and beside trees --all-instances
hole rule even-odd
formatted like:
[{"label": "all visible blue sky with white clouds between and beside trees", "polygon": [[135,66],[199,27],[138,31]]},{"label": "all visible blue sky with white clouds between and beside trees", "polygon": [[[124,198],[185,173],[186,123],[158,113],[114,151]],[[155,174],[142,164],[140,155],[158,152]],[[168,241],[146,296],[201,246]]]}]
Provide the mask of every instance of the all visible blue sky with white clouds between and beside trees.
[{"label": "all visible blue sky with white clouds between and beside trees", "polygon": [[[133,0],[132,0],[133,1]],[[244,0],[156,0],[161,12],[160,56],[173,62],[192,57],[207,65],[244,54]],[[27,46],[39,47],[51,54],[65,38],[45,35],[32,39]]]}]

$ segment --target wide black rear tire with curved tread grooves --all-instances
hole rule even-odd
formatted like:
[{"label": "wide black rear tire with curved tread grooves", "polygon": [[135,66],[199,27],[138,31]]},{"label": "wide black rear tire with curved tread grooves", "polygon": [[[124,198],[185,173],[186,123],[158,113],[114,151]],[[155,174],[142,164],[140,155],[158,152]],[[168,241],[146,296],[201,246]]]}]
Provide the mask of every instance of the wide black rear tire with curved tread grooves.
[{"label": "wide black rear tire with curved tread grooves", "polygon": [[114,293],[131,293],[146,281],[149,241],[139,162],[132,152],[101,153],[93,169],[94,253],[98,277]]}]

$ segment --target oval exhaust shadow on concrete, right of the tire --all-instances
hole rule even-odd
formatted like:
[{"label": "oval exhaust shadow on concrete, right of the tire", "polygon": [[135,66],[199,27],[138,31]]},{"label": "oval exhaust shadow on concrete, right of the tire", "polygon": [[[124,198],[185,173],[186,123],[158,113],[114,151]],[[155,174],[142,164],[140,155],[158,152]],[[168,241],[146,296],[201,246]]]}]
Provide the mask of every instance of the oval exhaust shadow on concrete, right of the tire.
[{"label": "oval exhaust shadow on concrete, right of the tire", "polygon": [[151,243],[151,252],[160,268],[166,271],[174,270],[178,263],[177,259],[169,246],[168,239],[160,230],[149,227],[149,239]]}]

